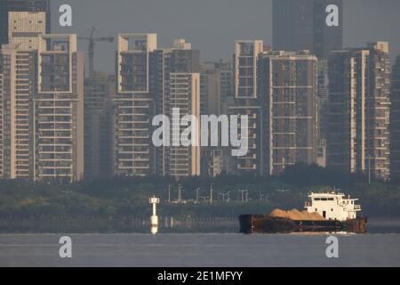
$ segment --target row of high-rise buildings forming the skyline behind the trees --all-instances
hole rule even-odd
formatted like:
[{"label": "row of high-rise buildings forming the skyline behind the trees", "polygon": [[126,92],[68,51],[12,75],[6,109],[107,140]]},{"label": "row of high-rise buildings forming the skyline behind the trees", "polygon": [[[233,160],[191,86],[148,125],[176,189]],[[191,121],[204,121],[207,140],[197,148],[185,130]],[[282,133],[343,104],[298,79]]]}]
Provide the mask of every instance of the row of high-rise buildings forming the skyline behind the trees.
[{"label": "row of high-rise buildings forming the skyline behind the trees", "polygon": [[[9,44],[0,53],[5,178],[279,175],[297,163],[390,178],[390,45],[375,39],[343,47],[341,0],[274,1],[276,48],[258,37],[236,39],[231,61],[214,63],[202,61],[183,37],[161,47],[156,33],[118,31],[114,38],[92,28],[91,37],[79,37],[57,33],[53,24],[49,34],[48,19],[57,12],[39,7],[48,2],[3,3],[9,9],[2,39]],[[332,27],[324,20],[330,6]],[[89,64],[79,39],[89,40]],[[115,61],[110,76],[92,69],[97,42],[116,42],[116,53],[104,57]],[[244,118],[246,151],[229,156],[220,142],[180,145],[180,134],[166,130],[163,140],[174,143],[160,147],[154,140],[160,114],[172,117],[173,126],[195,117],[189,131],[180,127],[192,139],[200,115]],[[213,117],[207,128],[216,128],[221,141],[224,122]]]}]

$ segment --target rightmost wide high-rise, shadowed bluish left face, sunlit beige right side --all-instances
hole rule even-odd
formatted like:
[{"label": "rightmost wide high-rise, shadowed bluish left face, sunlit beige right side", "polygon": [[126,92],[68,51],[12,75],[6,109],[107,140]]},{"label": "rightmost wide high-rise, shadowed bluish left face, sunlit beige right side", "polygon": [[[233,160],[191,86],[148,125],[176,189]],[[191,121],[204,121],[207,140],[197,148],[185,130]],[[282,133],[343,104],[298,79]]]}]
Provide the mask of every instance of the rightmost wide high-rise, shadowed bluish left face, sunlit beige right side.
[{"label": "rightmost wide high-rise, shadowed bluish left face, sunlit beige right side", "polygon": [[390,73],[386,42],[331,53],[328,167],[389,178]]}]

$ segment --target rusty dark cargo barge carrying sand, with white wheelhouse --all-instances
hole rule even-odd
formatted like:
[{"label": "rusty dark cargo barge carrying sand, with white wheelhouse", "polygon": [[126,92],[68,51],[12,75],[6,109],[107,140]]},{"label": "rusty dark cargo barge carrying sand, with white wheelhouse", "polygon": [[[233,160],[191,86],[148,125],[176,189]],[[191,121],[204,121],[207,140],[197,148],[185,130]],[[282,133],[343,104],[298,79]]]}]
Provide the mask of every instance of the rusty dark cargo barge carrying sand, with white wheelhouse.
[{"label": "rusty dark cargo barge carrying sand, with white wheelhouse", "polygon": [[357,216],[358,199],[336,191],[310,193],[308,198],[303,212],[276,209],[269,215],[239,216],[240,232],[366,232],[367,218]]}]

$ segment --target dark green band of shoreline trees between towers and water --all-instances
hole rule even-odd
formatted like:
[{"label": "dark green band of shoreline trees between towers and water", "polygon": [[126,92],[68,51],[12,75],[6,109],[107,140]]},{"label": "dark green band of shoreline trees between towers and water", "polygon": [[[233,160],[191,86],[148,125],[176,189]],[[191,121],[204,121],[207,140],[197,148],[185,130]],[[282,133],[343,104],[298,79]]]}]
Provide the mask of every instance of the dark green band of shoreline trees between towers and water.
[{"label": "dark green band of shoreline trees between towers and water", "polygon": [[[153,195],[161,199],[157,215],[165,229],[201,226],[235,230],[239,215],[269,214],[275,208],[303,210],[309,191],[333,189],[360,199],[363,216],[400,217],[399,184],[368,184],[363,174],[347,175],[298,164],[279,176],[220,175],[179,182],[156,176],[68,185],[0,180],[0,233],[135,232],[148,227],[148,198]],[[168,225],[171,219],[173,223]]]}]

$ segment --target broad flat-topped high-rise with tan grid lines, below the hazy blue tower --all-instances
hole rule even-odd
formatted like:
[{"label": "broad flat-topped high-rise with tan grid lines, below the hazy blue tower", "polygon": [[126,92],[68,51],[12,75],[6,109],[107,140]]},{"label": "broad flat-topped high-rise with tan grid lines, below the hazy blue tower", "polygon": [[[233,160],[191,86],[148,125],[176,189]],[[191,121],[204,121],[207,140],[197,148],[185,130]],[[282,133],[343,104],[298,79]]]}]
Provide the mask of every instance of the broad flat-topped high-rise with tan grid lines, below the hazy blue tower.
[{"label": "broad flat-topped high-rise with tan grid lines, below the hazy blue tower", "polygon": [[317,60],[308,52],[266,52],[259,61],[262,159],[268,175],[316,162]]}]

